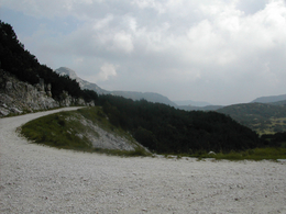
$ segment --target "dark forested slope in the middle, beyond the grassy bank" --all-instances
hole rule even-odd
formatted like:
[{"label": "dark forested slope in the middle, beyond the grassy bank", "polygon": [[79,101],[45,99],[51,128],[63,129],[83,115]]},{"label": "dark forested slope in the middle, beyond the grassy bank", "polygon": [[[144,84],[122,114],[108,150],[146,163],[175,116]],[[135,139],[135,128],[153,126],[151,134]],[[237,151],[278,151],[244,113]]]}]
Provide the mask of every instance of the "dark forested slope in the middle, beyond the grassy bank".
[{"label": "dark forested slope in the middle, beyond the grassy bank", "polygon": [[243,150],[262,145],[255,132],[217,112],[187,112],[113,95],[100,95],[98,104],[114,126],[161,154]]}]

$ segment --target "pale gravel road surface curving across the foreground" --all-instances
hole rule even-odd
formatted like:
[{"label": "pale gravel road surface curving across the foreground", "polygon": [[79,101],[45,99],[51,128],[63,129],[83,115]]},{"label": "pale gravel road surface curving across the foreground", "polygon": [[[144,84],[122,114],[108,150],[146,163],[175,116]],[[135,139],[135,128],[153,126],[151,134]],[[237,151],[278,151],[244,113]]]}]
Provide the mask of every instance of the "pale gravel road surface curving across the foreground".
[{"label": "pale gravel road surface curving across the foreground", "polygon": [[29,144],[0,119],[0,213],[286,213],[286,164],[120,158]]}]

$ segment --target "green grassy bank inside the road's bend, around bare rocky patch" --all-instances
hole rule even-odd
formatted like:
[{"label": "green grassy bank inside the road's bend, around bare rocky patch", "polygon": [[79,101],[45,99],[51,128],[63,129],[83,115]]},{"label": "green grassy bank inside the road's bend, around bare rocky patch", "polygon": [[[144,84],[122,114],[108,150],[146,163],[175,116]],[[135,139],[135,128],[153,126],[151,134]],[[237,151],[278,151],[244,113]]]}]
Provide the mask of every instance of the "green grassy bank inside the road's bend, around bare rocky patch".
[{"label": "green grassy bank inside the road's bend, around bare rocky patch", "polygon": [[[82,123],[80,119],[86,117],[98,124],[102,129],[114,135],[125,137],[134,145],[134,151],[110,150],[94,148],[91,142],[82,133],[95,131]],[[98,151],[123,156],[146,156],[148,155],[128,133],[111,125],[100,108],[85,108],[77,111],[59,112],[31,121],[22,126],[21,134],[30,140],[47,146],[82,151]]]}]

